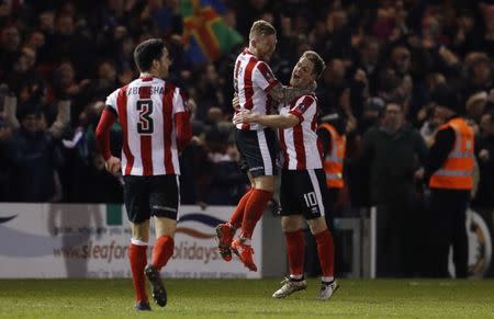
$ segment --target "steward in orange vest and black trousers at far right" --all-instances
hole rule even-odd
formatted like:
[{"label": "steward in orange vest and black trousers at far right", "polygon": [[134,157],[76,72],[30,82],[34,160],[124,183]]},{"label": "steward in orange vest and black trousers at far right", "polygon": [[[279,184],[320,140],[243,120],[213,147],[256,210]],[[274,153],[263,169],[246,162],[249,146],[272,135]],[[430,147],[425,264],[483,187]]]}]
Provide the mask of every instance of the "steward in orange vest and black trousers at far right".
[{"label": "steward in orange vest and black trousers at far right", "polygon": [[467,207],[473,186],[473,128],[459,116],[456,92],[437,87],[430,96],[441,119],[430,148],[425,180],[430,189],[430,267],[433,277],[447,277],[450,246],[456,277],[468,275]]}]

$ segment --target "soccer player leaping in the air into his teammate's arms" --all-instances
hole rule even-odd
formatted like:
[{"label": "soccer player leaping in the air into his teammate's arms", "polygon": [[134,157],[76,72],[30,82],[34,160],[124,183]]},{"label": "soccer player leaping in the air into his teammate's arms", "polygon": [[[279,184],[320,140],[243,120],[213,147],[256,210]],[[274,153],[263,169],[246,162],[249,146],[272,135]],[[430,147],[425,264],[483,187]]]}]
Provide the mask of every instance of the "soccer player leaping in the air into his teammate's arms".
[{"label": "soccer player leaping in the air into his teammate's arms", "polygon": [[[256,21],[250,29],[249,47],[235,62],[234,88],[240,111],[271,114],[277,112],[273,100],[288,103],[315,89],[315,82],[306,83],[305,88],[289,88],[274,78],[267,61],[276,45],[276,29],[263,20]],[[245,266],[257,271],[250,242],[254,228],[274,191],[277,138],[274,132],[262,124],[242,123],[236,126],[235,139],[240,152],[240,168],[248,170],[252,187],[240,198],[229,221],[216,227],[218,248],[224,260],[232,260],[233,250]],[[242,233],[233,241],[239,227]]]}]

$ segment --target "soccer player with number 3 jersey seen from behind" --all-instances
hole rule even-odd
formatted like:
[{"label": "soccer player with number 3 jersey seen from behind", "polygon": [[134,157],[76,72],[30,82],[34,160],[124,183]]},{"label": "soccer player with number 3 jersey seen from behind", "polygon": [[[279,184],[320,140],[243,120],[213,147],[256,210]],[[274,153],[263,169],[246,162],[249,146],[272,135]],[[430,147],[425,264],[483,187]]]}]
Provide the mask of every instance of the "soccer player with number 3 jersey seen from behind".
[{"label": "soccer player with number 3 jersey seen from behind", "polygon": [[[159,271],[173,254],[173,235],[179,208],[178,153],[189,143],[192,130],[184,91],[161,78],[171,65],[168,45],[153,38],[137,45],[134,59],[138,79],[117,89],[106,99],[97,127],[97,143],[106,170],[122,169],[124,201],[132,228],[128,249],[137,310],[150,310],[145,277],[155,301],[164,307],[167,293]],[[122,125],[122,161],[110,152],[110,127]],[[154,216],[156,242],[153,262],[146,250],[149,218]]]}]

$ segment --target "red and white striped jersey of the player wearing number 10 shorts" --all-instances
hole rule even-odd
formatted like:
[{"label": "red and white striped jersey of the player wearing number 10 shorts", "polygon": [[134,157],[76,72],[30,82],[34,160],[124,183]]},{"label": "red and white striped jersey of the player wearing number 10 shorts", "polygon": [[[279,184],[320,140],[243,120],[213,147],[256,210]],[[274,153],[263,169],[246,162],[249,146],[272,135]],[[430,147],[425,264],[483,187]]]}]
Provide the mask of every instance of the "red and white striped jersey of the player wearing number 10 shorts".
[{"label": "red and white striped jersey of the player wearing number 10 shorts", "polygon": [[319,114],[317,98],[313,94],[302,95],[293,100],[290,105],[283,105],[280,114],[293,114],[300,118],[297,125],[279,129],[283,169],[323,168],[323,148],[316,134]]}]

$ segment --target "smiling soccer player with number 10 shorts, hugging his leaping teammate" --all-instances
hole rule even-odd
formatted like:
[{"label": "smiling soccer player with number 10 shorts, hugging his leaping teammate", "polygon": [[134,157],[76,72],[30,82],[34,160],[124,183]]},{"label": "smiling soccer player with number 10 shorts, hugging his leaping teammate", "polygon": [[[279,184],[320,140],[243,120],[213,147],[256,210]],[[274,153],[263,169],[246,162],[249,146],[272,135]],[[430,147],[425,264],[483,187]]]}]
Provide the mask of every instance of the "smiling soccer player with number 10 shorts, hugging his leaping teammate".
[{"label": "smiling soccer player with number 10 shorts, hugging his leaping teammate", "polygon": [[[294,88],[314,82],[325,68],[315,52],[305,52],[295,65],[290,79]],[[290,276],[274,292],[274,298],[284,298],[305,289],[305,243],[302,231],[303,217],[317,242],[319,264],[323,272],[318,298],[327,300],[338,288],[334,278],[335,248],[333,236],[324,218],[327,204],[326,178],[323,170],[323,151],[317,143],[317,98],[306,94],[282,105],[279,115],[265,115],[245,110],[234,116],[235,124],[260,124],[279,129],[283,170],[281,173],[280,204],[281,227],[284,231]]]}]

